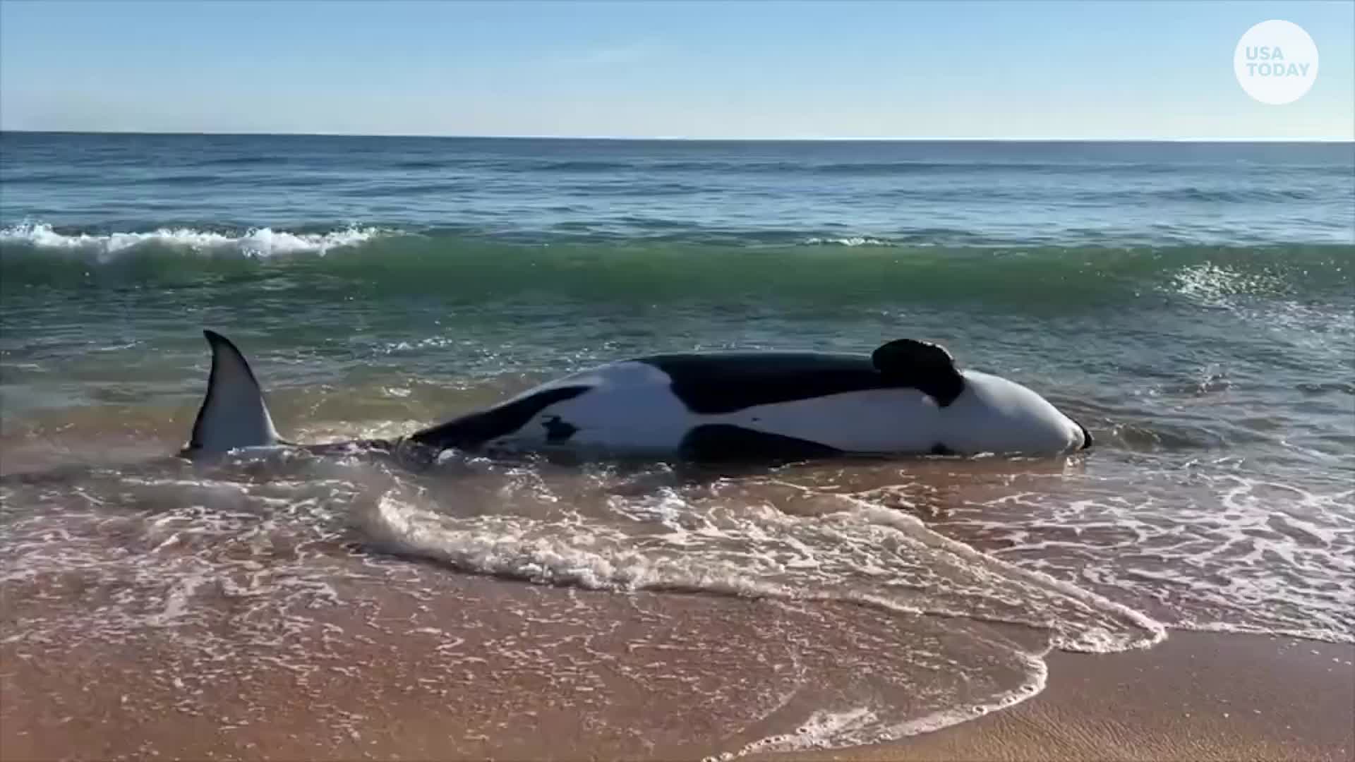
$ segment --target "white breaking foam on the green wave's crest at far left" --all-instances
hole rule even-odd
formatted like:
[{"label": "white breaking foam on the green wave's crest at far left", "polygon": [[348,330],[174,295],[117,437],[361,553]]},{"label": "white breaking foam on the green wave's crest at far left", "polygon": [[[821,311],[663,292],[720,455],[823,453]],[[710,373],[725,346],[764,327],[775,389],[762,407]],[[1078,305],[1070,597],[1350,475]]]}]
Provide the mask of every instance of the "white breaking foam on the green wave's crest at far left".
[{"label": "white breaking foam on the green wave's crest at far left", "polygon": [[159,228],[150,232],[68,235],[54,230],[47,224],[20,222],[0,228],[0,243],[65,251],[92,251],[106,256],[141,245],[188,251],[234,249],[245,256],[272,256],[276,254],[324,255],[335,248],[363,244],[382,233],[392,232],[371,226],[348,226],[327,233],[293,233],[272,228],[252,228],[241,235],[228,235],[192,228]]}]

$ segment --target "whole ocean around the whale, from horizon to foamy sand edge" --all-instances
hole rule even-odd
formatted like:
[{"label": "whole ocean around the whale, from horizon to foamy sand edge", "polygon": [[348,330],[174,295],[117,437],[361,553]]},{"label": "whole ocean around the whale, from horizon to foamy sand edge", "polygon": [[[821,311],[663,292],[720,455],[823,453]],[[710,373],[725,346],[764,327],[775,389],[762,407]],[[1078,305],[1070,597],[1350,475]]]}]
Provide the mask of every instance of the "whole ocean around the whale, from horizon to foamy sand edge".
[{"label": "whole ocean around the whale, from horizon to foamy sand edge", "polygon": [[[919,338],[1096,446],[191,465],[202,328],[294,441]],[[289,710],[360,748],[378,673],[453,755],[729,758],[1000,709],[1050,649],[1355,643],[1355,149],[4,133],[0,498],[5,662],[201,757]]]}]

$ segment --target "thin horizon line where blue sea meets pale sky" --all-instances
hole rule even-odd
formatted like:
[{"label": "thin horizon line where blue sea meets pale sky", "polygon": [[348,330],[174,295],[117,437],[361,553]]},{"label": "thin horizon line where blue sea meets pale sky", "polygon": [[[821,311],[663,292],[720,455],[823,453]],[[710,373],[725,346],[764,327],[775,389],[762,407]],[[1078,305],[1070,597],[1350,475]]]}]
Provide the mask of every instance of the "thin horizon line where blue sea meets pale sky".
[{"label": "thin horizon line where blue sea meets pale sky", "polygon": [[194,136],[194,137],[371,137],[428,140],[606,140],[667,142],[1355,142],[1352,137],[684,137],[684,136],[557,136],[557,134],[434,134],[434,133],[305,133],[190,130],[31,130],[0,129],[0,134]]}]

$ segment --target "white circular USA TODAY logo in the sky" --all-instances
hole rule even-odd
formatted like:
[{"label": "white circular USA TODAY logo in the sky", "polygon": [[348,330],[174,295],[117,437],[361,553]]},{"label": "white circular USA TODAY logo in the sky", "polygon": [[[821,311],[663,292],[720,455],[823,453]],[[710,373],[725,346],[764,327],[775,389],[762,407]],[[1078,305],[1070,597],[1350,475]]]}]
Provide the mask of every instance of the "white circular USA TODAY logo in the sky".
[{"label": "white circular USA TODAY logo in the sky", "polygon": [[1317,46],[1295,23],[1262,22],[1237,41],[1233,73],[1256,100],[1274,106],[1293,103],[1317,80]]}]

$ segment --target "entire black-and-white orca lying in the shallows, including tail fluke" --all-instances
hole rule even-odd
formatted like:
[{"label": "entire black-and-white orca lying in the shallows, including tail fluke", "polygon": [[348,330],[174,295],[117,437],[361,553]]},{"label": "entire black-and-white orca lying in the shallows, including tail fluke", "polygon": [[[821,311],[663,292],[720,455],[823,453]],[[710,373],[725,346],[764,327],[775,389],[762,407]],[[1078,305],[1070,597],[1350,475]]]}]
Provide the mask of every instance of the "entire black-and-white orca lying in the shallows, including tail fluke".
[{"label": "entire black-and-white orca lying in the shallows, including tail fluke", "polygon": [[[249,363],[211,346],[207,395],[186,456],[291,445]],[[1035,392],[959,370],[943,347],[900,339],[870,355],[688,353],[603,365],[396,441],[312,445],[576,453],[692,461],[837,456],[1057,454],[1091,434]]]}]

